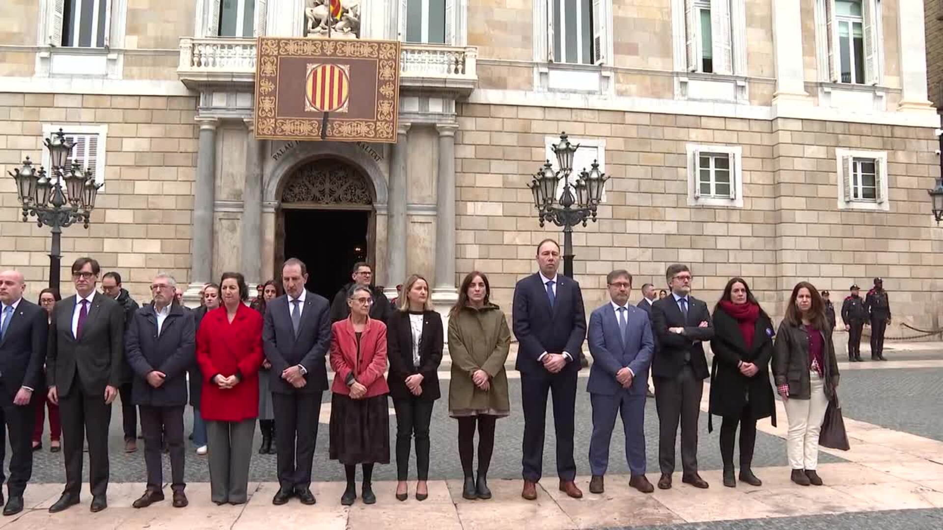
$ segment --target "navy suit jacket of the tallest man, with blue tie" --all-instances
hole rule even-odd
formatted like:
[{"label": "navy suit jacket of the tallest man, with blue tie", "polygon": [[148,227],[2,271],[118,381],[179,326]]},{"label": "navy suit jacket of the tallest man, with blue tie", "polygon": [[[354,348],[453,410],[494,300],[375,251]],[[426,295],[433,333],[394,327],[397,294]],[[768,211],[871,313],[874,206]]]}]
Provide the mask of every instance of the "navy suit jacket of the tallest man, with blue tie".
[{"label": "navy suit jacket of the tallest man, with blue tie", "polygon": [[518,338],[515,369],[521,373],[550,374],[538,356],[568,352],[573,360],[560,373],[577,372],[587,338],[586,309],[580,284],[563,274],[556,275],[554,306],[547,299],[547,288],[540,273],[531,274],[514,287],[512,321]]}]

